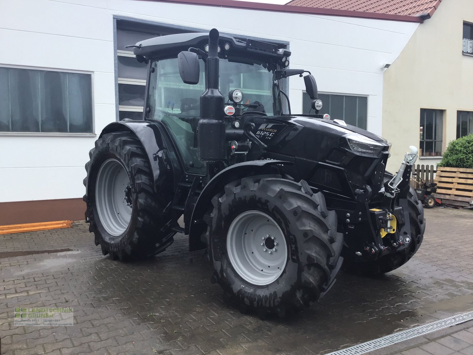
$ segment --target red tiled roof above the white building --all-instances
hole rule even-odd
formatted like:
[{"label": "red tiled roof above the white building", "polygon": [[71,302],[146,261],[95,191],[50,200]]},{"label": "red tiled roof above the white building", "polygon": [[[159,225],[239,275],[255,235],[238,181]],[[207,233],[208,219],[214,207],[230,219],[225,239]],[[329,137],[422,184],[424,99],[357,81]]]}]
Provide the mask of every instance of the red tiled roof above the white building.
[{"label": "red tiled roof above the white building", "polygon": [[432,16],[440,1],[442,0],[292,0],[287,5],[404,16],[428,13]]}]

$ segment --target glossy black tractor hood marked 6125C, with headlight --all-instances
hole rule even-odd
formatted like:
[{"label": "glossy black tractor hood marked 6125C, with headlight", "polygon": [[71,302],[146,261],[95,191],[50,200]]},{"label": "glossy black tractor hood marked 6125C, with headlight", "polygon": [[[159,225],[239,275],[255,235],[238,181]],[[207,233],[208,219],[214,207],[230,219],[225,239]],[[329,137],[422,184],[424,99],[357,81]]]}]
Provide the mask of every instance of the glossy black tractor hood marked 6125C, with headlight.
[{"label": "glossy black tractor hood marked 6125C, with headlight", "polygon": [[[291,160],[296,179],[339,195],[354,196],[370,186],[379,191],[389,144],[352,125],[297,115],[249,118],[252,132],[266,144],[264,158]],[[375,178],[376,177],[376,178]]]}]

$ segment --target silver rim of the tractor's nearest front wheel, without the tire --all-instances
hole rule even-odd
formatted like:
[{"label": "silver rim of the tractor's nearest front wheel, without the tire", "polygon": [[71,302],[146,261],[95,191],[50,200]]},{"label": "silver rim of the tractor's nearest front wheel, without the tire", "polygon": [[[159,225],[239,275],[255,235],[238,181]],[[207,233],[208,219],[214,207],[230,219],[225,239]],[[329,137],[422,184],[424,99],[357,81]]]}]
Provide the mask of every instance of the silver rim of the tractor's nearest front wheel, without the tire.
[{"label": "silver rim of the tractor's nearest front wheel, without the tire", "polygon": [[288,259],[286,239],[278,223],[260,211],[246,211],[233,220],[227,253],[238,275],[255,285],[276,281]]}]

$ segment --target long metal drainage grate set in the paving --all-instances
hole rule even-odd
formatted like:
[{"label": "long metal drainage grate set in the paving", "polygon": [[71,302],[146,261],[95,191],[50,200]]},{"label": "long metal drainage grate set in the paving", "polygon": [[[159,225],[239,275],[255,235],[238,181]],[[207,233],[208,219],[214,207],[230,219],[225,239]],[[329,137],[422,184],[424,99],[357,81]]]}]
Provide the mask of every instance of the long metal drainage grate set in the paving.
[{"label": "long metal drainage grate set in the paving", "polygon": [[375,340],[367,341],[366,343],[358,344],[355,346],[347,347],[346,349],[334,351],[333,353],[326,355],[360,355],[366,354],[373,350],[381,349],[385,346],[390,346],[396,343],[400,343],[404,340],[419,337],[421,335],[429,334],[440,329],[452,327],[457,324],[467,322],[473,319],[473,311],[458,314],[453,317],[446,319],[437,320],[435,322],[424,324],[419,327],[412,329],[403,330],[398,333],[386,335],[385,337],[377,338]]}]

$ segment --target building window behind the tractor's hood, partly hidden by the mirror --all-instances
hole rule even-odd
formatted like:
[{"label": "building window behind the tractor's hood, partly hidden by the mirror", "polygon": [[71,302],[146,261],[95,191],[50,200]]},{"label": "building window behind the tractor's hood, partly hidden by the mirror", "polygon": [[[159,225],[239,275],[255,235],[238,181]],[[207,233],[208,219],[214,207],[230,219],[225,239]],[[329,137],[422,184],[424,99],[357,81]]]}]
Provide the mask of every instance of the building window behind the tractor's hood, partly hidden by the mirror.
[{"label": "building window behind the tractor's hood, partly hidden by the mirror", "polygon": [[[319,113],[329,114],[331,119],[339,119],[347,124],[366,129],[368,118],[368,98],[366,96],[319,94],[323,106]],[[311,99],[307,92],[302,94],[302,113],[309,114]]]}]

